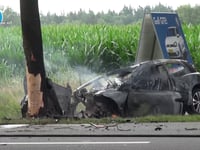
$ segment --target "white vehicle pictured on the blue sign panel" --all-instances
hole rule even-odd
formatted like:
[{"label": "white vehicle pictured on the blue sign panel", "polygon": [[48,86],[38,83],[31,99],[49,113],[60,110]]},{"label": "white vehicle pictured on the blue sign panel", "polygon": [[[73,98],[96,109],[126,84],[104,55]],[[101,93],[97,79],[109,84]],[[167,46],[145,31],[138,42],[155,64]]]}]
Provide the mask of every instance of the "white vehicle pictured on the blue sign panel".
[{"label": "white vehicle pictured on the blue sign panel", "polygon": [[165,46],[170,58],[187,59],[184,39],[176,26],[168,27]]}]

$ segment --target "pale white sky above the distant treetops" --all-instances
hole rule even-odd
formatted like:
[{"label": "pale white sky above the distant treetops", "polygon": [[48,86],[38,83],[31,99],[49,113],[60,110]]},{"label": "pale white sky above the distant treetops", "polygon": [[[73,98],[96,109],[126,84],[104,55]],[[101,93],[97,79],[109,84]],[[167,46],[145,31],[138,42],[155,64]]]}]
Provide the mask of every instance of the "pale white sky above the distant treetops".
[{"label": "pale white sky above the distant treetops", "polygon": [[[43,14],[50,13],[68,13],[77,12],[80,9],[92,10],[97,12],[107,12],[108,10],[114,10],[119,12],[124,6],[131,6],[137,9],[139,6],[145,7],[155,6],[159,3],[170,6],[174,10],[180,5],[191,6],[200,5],[199,0],[38,0],[39,11]],[[16,12],[20,12],[20,0],[0,0],[0,6],[10,7]]]}]

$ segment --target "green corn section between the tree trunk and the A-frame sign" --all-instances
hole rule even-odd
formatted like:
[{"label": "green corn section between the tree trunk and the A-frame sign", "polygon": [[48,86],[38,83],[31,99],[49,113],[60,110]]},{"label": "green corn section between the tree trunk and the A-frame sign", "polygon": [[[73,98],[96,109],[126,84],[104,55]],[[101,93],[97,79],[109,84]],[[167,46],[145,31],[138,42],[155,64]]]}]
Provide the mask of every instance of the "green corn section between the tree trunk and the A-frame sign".
[{"label": "green corn section between the tree trunk and the A-frame sign", "polygon": [[58,61],[103,72],[134,63],[140,26],[48,25],[42,31],[49,58],[60,53]]}]

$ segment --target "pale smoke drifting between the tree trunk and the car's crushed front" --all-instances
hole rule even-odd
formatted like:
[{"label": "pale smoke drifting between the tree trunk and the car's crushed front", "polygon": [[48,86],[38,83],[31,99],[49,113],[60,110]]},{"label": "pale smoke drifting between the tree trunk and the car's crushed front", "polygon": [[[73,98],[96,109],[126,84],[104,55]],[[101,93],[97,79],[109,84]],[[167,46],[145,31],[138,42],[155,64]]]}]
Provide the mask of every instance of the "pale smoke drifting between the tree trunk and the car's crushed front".
[{"label": "pale smoke drifting between the tree trunk and the car's crushed front", "polygon": [[44,53],[44,64],[48,78],[64,86],[69,83],[73,89],[97,76],[85,66],[71,66],[66,56],[58,51]]}]

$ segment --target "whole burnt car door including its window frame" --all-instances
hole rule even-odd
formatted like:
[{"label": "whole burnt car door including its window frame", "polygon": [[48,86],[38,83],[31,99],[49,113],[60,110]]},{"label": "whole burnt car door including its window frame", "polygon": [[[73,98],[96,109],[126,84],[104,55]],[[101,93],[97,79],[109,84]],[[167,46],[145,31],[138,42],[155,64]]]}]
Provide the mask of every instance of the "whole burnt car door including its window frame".
[{"label": "whole burnt car door including its window frame", "polygon": [[132,86],[127,99],[127,115],[180,114],[179,92],[163,65],[147,64],[132,75]]}]

